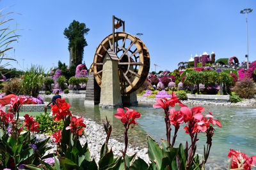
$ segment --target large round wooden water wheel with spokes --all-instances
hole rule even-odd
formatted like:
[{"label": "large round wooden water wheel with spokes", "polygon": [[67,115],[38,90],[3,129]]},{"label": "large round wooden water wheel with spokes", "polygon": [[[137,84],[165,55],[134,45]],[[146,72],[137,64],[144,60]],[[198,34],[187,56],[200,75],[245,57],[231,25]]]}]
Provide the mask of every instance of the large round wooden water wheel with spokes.
[{"label": "large round wooden water wheel with spokes", "polygon": [[[113,51],[113,34],[107,36],[96,49],[91,71],[101,87],[103,58],[106,51]],[[127,32],[115,33],[115,48],[118,56],[118,71],[122,94],[136,91],[147,78],[150,59],[148,49],[140,38]]]}]

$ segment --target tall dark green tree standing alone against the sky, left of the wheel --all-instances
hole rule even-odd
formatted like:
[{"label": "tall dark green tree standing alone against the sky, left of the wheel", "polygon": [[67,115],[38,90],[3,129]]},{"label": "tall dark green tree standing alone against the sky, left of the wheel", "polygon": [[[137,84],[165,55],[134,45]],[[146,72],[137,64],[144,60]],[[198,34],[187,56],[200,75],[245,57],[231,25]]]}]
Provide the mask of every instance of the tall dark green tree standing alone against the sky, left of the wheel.
[{"label": "tall dark green tree standing alone against the sky, left of the wheel", "polygon": [[63,34],[65,35],[65,38],[69,40],[69,66],[71,66],[72,64],[77,66],[78,64],[82,63],[84,46],[87,46],[84,34],[88,34],[88,31],[90,31],[90,29],[86,28],[86,25],[84,23],[79,23],[76,20],[73,20],[69,27],[65,28]]}]

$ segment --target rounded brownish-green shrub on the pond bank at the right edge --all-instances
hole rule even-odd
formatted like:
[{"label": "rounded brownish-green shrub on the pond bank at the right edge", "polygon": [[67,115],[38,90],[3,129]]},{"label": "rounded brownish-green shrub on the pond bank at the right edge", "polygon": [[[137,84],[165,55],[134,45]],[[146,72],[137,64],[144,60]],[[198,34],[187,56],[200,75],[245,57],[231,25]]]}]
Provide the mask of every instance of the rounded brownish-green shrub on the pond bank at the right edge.
[{"label": "rounded brownish-green shrub on the pond bank at the right edge", "polygon": [[253,80],[250,78],[243,78],[242,80],[237,81],[236,86],[234,87],[234,92],[244,99],[253,98],[255,94],[255,85]]}]

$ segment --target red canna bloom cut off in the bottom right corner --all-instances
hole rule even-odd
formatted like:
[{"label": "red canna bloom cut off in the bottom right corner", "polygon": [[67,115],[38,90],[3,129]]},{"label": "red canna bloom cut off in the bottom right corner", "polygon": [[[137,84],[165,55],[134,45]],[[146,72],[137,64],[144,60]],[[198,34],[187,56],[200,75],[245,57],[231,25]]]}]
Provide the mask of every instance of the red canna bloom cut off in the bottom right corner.
[{"label": "red canna bloom cut off in the bottom right corner", "polygon": [[245,153],[230,149],[230,151],[228,152],[228,157],[230,159],[232,157],[232,169],[250,170],[252,166],[255,167],[256,156],[248,158]]}]

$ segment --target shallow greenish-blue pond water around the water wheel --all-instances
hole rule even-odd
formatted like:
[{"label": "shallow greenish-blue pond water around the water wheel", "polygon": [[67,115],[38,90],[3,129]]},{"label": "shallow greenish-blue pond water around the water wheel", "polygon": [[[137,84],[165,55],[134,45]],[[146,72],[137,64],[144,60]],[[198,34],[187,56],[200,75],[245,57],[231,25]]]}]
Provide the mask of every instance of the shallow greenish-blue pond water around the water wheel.
[{"label": "shallow greenish-blue pond water around the water wheel", "polygon": [[[45,101],[50,100],[49,98],[45,99]],[[113,126],[111,137],[124,141],[122,122],[114,117],[116,109],[102,109],[98,105],[84,105],[84,98],[69,98],[66,101],[70,103],[70,111],[74,115],[91,118],[99,124],[102,123],[102,120],[106,120],[107,116]],[[134,129],[129,129],[129,144],[146,147],[147,134],[158,142],[161,138],[166,139],[162,108],[153,108],[152,104],[139,103],[139,106],[132,107],[132,109],[139,111],[141,117],[136,119],[138,125],[135,125]],[[214,162],[215,165],[220,167],[227,167],[227,153],[230,148],[241,150],[248,157],[256,155],[256,108],[206,106],[204,115],[207,114],[208,110],[211,111],[214,118],[220,120],[222,127],[220,128],[217,125],[214,127],[216,131],[214,132],[211,153],[207,162]],[[206,136],[201,133],[198,137],[197,152],[202,154]],[[175,144],[176,146],[179,146],[179,143],[184,145],[186,141],[190,141],[189,135],[185,133],[183,127],[180,127]]]}]

